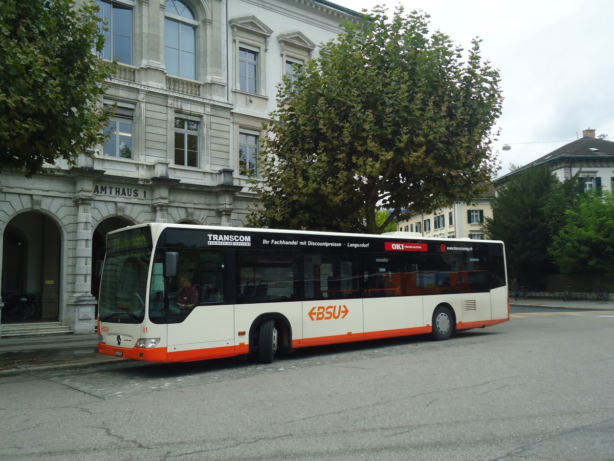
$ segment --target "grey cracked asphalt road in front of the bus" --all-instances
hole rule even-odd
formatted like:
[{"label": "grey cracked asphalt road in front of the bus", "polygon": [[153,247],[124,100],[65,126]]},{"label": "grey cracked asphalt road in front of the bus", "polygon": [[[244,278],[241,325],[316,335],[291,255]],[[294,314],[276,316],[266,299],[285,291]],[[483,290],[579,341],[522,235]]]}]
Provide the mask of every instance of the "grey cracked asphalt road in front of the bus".
[{"label": "grey cracked asphalt road in front of the bus", "polygon": [[612,460],[614,312],[273,366],[128,361],[0,377],[0,459]]}]

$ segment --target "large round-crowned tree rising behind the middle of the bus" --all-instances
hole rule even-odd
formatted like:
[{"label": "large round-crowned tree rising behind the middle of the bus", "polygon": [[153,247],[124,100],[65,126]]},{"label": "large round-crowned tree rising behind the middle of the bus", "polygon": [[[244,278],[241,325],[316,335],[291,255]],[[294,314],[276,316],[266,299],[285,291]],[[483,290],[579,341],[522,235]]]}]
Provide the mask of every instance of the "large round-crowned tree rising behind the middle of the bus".
[{"label": "large round-crowned tree rising behind the middle of the bus", "polygon": [[[427,18],[376,7],[278,94],[258,168],[257,226],[380,233],[406,211],[469,202],[498,164],[499,74]],[[373,210],[391,210],[377,224]]]}]

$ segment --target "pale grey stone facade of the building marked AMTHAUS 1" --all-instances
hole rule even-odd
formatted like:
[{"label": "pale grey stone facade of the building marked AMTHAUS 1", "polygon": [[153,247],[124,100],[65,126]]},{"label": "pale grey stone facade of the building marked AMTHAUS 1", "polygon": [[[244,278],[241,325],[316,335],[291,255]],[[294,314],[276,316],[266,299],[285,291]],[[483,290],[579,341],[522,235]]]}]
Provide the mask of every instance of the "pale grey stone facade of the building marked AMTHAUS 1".
[{"label": "pale grey stone facade of the building marked AMTHAUS 1", "polygon": [[[80,1],[85,0],[79,0]],[[97,0],[118,72],[111,138],[76,165],[0,175],[3,292],[93,333],[106,233],[148,222],[244,226],[277,85],[359,14],[317,0]],[[1,304],[0,304],[1,305]]]}]

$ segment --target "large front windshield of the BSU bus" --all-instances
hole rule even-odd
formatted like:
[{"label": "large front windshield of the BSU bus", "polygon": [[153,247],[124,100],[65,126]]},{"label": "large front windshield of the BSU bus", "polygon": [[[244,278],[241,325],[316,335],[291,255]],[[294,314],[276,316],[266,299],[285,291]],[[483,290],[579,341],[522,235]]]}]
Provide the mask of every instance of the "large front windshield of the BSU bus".
[{"label": "large front windshield of the BSU bus", "polygon": [[101,321],[143,321],[151,255],[151,234],[147,227],[109,235],[98,300]]}]

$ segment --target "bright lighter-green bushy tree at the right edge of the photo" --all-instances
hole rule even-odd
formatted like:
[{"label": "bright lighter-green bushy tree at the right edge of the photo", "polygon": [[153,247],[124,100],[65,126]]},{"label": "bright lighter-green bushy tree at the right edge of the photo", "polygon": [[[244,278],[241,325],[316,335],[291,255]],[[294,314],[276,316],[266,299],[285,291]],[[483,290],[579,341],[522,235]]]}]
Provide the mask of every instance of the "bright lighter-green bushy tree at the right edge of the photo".
[{"label": "bright lighter-green bushy tree at the right edge of the photo", "polygon": [[550,248],[561,272],[614,277],[614,196],[586,192],[564,216]]}]

